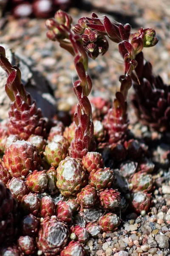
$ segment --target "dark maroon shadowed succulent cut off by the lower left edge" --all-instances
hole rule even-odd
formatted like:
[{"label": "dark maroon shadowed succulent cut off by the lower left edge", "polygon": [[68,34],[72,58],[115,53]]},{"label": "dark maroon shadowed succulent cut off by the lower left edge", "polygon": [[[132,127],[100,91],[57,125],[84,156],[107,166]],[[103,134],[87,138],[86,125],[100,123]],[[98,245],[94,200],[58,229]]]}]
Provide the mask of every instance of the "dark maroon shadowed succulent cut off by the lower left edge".
[{"label": "dark maroon shadowed succulent cut off by the lower left edge", "polygon": [[0,181],[0,244],[4,244],[7,239],[12,241],[17,220],[17,201],[12,198],[10,190]]}]

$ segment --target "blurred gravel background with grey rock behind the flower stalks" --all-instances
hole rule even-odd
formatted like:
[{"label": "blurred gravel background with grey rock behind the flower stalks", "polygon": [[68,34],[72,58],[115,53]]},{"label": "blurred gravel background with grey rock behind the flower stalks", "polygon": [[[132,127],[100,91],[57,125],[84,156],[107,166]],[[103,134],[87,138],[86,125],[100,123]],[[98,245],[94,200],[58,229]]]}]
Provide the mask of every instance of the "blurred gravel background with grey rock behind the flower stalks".
[{"label": "blurred gravel background with grey rock behind the flower stalks", "polygon": [[[45,20],[62,9],[73,17],[96,12],[112,20],[130,23],[132,32],[141,26],[156,30],[159,43],[145,48],[145,58],[153,64],[154,73],[170,84],[170,1],[169,0],[0,0],[0,43],[8,49],[8,58],[18,64],[23,83],[45,116],[64,115],[76,103],[72,82],[77,79],[73,58],[57,42],[46,38]],[[15,55],[13,55],[15,52]],[[0,80],[0,115],[6,117],[8,99]],[[110,43],[108,52],[89,61],[93,79],[93,96],[113,99],[123,74],[123,60],[118,46]]]}]

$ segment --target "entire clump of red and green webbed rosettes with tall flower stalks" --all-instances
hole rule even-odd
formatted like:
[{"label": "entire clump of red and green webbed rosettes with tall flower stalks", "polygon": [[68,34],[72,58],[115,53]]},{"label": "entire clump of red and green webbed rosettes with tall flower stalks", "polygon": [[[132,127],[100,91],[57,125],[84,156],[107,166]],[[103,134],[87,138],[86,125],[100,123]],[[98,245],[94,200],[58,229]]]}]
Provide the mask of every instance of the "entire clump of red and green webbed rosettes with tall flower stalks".
[{"label": "entire clump of red and green webbed rosettes with tall flower stalks", "polygon": [[[167,87],[154,78],[149,63],[143,64],[142,49],[157,43],[156,33],[143,28],[130,33],[129,24],[112,23],[106,16],[102,23],[94,13],[71,23],[71,16],[61,10],[46,21],[47,37],[74,56],[79,77],[74,82],[77,108],[69,127],[42,116],[21,83],[19,68],[9,63],[0,47],[11,99],[9,119],[0,125],[2,256],[68,256],[73,251],[84,256],[89,236],[116,230],[126,209],[140,213],[150,207],[154,164],[147,158],[147,146],[128,136],[126,100],[134,81],[140,118],[155,128],[158,115],[156,128],[169,128]],[[125,74],[119,78],[120,91],[112,107],[101,98],[93,99],[93,114],[88,57],[105,54],[108,39],[118,43]],[[146,87],[147,97],[156,95],[157,108],[142,101]]]}]

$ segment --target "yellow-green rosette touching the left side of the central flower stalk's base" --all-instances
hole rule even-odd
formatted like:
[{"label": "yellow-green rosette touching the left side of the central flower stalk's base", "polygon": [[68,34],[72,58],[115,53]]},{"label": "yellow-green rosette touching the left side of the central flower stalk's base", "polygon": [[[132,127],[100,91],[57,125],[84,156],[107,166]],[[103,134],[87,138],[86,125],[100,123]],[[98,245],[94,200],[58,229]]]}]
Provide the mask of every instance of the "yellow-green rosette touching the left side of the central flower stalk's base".
[{"label": "yellow-green rosette touching the left side of the central flower stalk's base", "polygon": [[50,142],[45,147],[44,156],[49,164],[54,167],[59,165],[59,162],[65,159],[67,154],[67,148],[60,142]]}]

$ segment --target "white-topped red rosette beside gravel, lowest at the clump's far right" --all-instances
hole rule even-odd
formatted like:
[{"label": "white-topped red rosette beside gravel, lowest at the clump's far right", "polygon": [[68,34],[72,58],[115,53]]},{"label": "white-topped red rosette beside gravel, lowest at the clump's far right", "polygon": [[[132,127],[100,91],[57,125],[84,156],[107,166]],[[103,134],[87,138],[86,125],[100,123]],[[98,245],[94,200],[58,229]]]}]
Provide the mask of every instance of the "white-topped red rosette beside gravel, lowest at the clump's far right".
[{"label": "white-topped red rosette beside gravel, lowest at the clump's far right", "polygon": [[150,207],[150,194],[144,192],[133,192],[131,194],[131,207],[137,213],[148,211]]}]

